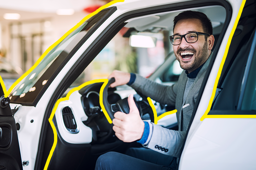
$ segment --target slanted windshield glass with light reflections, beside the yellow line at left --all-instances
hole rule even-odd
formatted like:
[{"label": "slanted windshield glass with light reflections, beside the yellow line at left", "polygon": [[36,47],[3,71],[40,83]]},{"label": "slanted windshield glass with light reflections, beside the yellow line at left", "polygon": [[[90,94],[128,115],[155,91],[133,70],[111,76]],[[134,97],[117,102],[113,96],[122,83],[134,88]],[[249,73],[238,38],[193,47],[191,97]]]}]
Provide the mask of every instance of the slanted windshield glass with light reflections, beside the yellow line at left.
[{"label": "slanted windshield glass with light reflections, beside the yellow line at left", "polygon": [[[12,90],[9,98],[12,103],[34,103],[38,94],[46,90],[52,80],[59,73],[62,67],[75,54],[78,42],[95,27],[108,10],[100,11],[98,14],[86,20],[81,26],[70,33],[63,41],[56,45],[20,83]],[[90,34],[91,35],[91,34]],[[84,39],[83,39],[84,40]],[[86,41],[86,40],[84,40]],[[79,43],[81,46],[81,43]],[[37,102],[36,102],[37,103]]]}]

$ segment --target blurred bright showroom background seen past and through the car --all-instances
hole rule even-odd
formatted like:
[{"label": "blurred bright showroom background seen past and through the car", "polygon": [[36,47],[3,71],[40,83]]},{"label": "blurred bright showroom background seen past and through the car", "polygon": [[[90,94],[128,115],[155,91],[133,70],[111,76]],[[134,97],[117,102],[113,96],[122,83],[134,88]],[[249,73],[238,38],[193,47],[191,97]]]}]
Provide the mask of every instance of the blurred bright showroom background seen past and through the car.
[{"label": "blurred bright showroom background seen past and through the car", "polygon": [[[85,16],[111,0],[11,0],[0,2],[0,75],[6,90],[25,73],[54,42]],[[155,48],[133,48],[123,28],[100,52],[73,85],[107,78],[112,70],[148,77],[172,50],[156,33]],[[145,54],[148,55],[141,55]],[[119,56],[119,57],[118,57]],[[120,56],[121,60],[120,60]],[[117,59],[118,58],[118,59]]]}]

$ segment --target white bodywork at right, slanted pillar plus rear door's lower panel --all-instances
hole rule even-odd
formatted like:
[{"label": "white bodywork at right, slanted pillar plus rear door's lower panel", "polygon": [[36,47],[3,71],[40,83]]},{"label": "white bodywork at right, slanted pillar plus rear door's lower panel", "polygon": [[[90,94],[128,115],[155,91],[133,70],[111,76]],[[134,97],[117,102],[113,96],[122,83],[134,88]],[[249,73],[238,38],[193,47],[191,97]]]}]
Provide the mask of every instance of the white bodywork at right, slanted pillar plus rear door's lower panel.
[{"label": "white bodywork at right, slanted pillar plus rear door's lower panel", "polygon": [[[239,5],[241,4],[242,1],[239,3],[231,2],[233,6],[233,17],[231,18],[228,30],[234,30],[236,28],[237,23],[234,24],[234,27],[232,23],[235,23],[237,19],[235,16],[238,15]],[[240,16],[238,15],[238,17]],[[222,118],[222,115],[218,118],[218,115],[215,115],[215,118],[204,117],[203,121],[200,120],[205,113],[208,113],[206,109],[212,105],[212,102],[209,101],[216,90],[216,86],[214,88],[214,85],[219,81],[216,77],[218,71],[222,69],[220,64],[222,58],[224,58],[223,56],[225,56],[223,53],[220,54],[220,51],[228,51],[228,45],[226,45],[228,44],[227,40],[228,38],[231,40],[232,36],[233,34],[229,37],[226,33],[222,41],[223,45],[219,49],[189,129],[186,144],[181,155],[179,169],[187,169],[188,167],[190,169],[216,169],[216,167],[218,169],[255,169],[256,159],[253,154],[256,151],[256,147],[252,144],[252,141],[255,141],[255,136],[252,135],[254,133],[253,131],[255,131],[253,125],[255,124],[255,119],[247,119],[245,118],[246,116],[244,118]],[[226,114],[231,117],[232,111],[227,111]],[[233,114],[236,115],[237,113],[233,112]],[[242,114],[246,115],[246,111]],[[195,148],[197,148],[196,153]],[[192,152],[193,155],[191,154]],[[209,155],[207,157],[205,157],[206,152]],[[245,152],[246,154],[244,154]],[[198,161],[197,165],[188,166],[187,163],[191,163],[195,158],[200,160],[200,163]]]}]

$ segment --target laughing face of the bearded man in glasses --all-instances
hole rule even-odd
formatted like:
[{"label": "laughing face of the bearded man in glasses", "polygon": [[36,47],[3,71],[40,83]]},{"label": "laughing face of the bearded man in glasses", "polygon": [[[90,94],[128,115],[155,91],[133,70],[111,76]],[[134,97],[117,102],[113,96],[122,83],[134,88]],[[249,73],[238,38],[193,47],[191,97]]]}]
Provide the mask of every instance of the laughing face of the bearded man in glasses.
[{"label": "laughing face of the bearded man in glasses", "polygon": [[[173,34],[184,35],[189,32],[204,33],[199,19],[179,20],[174,27]],[[205,36],[206,35],[198,35],[198,40],[194,43],[188,43],[182,38],[180,45],[173,46],[174,54],[183,70],[187,70],[190,73],[208,59],[211,54],[211,49],[209,49],[208,41],[205,41]]]}]

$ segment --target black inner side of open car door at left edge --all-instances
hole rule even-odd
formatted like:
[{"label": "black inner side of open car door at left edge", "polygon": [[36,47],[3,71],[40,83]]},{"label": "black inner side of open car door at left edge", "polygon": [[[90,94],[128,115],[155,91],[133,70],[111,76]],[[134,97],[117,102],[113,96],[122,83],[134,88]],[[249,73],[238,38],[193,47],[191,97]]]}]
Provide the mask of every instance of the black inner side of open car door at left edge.
[{"label": "black inner side of open car door at left edge", "polygon": [[[23,168],[17,128],[9,105],[10,99],[4,98],[2,86],[0,96],[0,169],[21,170]],[[26,163],[28,162],[24,162]]]}]

